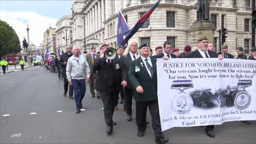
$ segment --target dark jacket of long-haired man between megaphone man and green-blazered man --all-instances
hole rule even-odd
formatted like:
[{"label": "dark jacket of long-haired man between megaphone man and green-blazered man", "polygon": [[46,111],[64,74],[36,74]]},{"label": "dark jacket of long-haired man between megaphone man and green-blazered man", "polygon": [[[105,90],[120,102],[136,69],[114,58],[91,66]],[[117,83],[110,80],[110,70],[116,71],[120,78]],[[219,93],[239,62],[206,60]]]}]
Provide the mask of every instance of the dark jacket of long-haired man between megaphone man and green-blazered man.
[{"label": "dark jacket of long-haired man between megaphone man and green-blazered man", "polygon": [[121,63],[123,64],[123,67],[124,67],[124,73],[126,75],[126,82],[127,82],[127,89],[132,89],[132,86],[131,86],[131,82],[129,80],[129,76],[128,76],[128,72],[129,72],[129,68],[130,68],[130,65],[131,65],[131,61],[132,61],[132,58],[130,56],[130,54],[128,53],[127,57],[126,56],[121,56],[120,57],[120,61]]}]

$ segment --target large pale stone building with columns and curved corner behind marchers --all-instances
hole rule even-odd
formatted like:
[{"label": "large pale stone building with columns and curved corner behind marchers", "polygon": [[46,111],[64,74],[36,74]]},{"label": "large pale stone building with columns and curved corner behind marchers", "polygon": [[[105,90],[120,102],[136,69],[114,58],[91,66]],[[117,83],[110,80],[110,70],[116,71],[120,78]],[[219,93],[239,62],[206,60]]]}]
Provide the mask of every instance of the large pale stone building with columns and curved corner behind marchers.
[{"label": "large pale stone building with columns and curved corner behind marchers", "polygon": [[[119,9],[128,25],[133,27],[137,20],[157,0],[74,0],[72,19],[74,22],[74,45],[82,46],[84,39],[86,51],[92,46],[99,47],[107,43],[117,47],[117,25]],[[189,28],[196,21],[197,0],[162,0],[150,15],[147,22],[134,35],[138,43],[148,41],[154,50],[170,41],[172,47],[183,51],[185,45],[191,45]],[[229,52],[236,56],[235,48],[241,46],[245,53],[251,47],[251,1],[249,0],[210,0],[210,15],[216,26],[214,40],[210,41],[219,51],[219,29],[224,22],[228,29],[226,44]],[[74,37],[75,35],[75,37]],[[132,39],[133,39],[132,38]]]}]

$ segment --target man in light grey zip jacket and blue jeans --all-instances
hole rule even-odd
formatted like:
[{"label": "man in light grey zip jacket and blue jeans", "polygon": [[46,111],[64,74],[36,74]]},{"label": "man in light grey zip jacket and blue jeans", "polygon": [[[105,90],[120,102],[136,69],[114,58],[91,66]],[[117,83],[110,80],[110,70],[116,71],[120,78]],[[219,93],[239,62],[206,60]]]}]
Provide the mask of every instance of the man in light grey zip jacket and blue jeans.
[{"label": "man in light grey zip jacket and blue jeans", "polygon": [[66,75],[70,86],[74,89],[75,105],[77,106],[77,111],[75,113],[80,113],[82,109],[82,100],[85,95],[85,74],[87,76],[86,82],[90,81],[90,67],[86,58],[80,55],[80,50],[78,46],[73,49],[73,56],[68,58]]}]

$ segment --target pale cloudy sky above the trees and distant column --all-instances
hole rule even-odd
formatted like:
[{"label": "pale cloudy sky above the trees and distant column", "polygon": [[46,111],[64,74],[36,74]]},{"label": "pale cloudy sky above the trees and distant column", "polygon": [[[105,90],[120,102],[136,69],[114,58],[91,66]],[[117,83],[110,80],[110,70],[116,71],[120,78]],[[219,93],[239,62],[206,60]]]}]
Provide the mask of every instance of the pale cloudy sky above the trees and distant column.
[{"label": "pale cloudy sky above the trees and distant column", "polygon": [[27,39],[27,24],[30,28],[30,43],[39,46],[43,32],[55,27],[63,15],[71,15],[72,0],[66,1],[5,1],[0,0],[0,20],[14,28],[22,42]]}]

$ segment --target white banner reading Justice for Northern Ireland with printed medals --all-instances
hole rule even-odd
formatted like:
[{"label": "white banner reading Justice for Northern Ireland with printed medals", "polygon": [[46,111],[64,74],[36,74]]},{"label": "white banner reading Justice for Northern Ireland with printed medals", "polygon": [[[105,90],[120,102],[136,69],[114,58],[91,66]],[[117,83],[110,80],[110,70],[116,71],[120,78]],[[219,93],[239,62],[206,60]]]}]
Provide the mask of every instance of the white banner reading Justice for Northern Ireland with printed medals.
[{"label": "white banner reading Justice for Northern Ireland with printed medals", "polygon": [[157,59],[162,130],[256,120],[256,61]]}]

